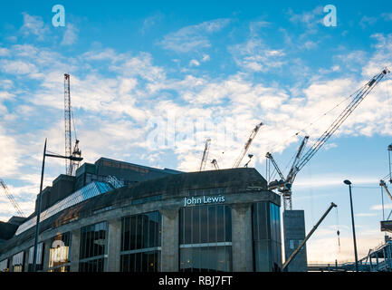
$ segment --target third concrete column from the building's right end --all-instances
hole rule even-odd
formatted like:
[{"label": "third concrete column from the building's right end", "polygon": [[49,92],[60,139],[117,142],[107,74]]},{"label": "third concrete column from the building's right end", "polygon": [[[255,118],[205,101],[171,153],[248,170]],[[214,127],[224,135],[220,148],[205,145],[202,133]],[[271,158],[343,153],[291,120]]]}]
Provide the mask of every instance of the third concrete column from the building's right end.
[{"label": "third concrete column from the building's right end", "polygon": [[108,221],[108,259],[105,272],[120,272],[121,219]]}]

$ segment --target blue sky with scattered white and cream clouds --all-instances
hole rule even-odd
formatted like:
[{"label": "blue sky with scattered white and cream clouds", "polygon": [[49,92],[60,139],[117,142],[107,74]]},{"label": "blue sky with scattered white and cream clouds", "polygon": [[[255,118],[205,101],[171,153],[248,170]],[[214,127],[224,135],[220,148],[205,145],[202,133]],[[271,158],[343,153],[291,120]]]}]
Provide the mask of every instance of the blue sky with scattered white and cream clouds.
[{"label": "blue sky with scattered white and cream clouds", "polygon": [[[64,25],[56,23],[54,5],[63,6]],[[327,5],[336,8],[336,25]],[[0,178],[26,214],[39,191],[45,138],[49,150],[64,153],[64,73],[71,75],[83,161],[107,157],[196,171],[211,138],[206,169],[213,159],[228,169],[263,122],[248,153],[249,167],[265,177],[266,152],[287,174],[301,139],[309,135],[311,146],[352,93],[392,68],[388,1],[69,0],[0,7]],[[338,205],[307,244],[311,263],[354,259],[344,179],[353,184],[359,257],[382,243],[378,182],[388,174],[391,129],[389,74],[298,174],[292,204],[305,210],[307,232],[330,202]],[[63,160],[48,160],[44,186],[64,172]],[[387,216],[387,195],[384,203]],[[1,195],[0,220],[14,214]]]}]

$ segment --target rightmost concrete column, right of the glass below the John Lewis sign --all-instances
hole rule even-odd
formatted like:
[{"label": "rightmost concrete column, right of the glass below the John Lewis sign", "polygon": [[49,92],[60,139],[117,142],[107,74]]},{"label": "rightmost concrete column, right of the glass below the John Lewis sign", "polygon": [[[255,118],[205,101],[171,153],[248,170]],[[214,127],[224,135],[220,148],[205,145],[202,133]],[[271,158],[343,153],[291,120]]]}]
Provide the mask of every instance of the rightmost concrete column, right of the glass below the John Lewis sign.
[{"label": "rightmost concrete column, right of the glass below the John Lewis sign", "polygon": [[252,204],[232,206],[233,271],[253,272]]}]

